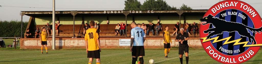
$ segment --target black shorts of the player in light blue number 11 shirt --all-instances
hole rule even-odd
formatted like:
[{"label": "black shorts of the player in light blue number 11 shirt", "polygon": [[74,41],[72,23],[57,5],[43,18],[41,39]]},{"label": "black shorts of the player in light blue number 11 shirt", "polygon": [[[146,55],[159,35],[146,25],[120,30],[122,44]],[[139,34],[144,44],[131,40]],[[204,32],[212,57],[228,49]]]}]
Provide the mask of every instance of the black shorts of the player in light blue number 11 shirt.
[{"label": "black shorts of the player in light blue number 11 shirt", "polygon": [[145,56],[144,46],[133,46],[132,47],[132,56]]}]

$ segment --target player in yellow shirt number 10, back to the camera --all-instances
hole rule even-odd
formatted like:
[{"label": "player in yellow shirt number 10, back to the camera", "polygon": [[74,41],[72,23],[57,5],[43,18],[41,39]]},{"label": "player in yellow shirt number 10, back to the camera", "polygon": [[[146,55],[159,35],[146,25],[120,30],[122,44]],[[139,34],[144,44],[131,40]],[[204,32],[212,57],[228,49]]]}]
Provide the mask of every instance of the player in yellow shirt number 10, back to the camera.
[{"label": "player in yellow shirt number 10, back to the camera", "polygon": [[85,45],[86,53],[89,58],[88,64],[92,64],[93,58],[96,58],[96,64],[100,64],[100,40],[99,40],[99,30],[94,28],[95,22],[90,21],[90,28],[86,30],[85,34]]}]

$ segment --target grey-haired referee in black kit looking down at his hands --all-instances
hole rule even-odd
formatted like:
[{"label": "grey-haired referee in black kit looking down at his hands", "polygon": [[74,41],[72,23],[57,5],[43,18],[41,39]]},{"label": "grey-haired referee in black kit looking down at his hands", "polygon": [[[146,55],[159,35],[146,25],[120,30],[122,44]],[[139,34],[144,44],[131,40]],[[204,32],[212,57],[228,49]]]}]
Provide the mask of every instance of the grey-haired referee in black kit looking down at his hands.
[{"label": "grey-haired referee in black kit looking down at his hands", "polygon": [[189,39],[189,36],[188,36],[188,33],[187,32],[184,32],[184,28],[181,28],[180,29],[180,34],[177,35],[176,37],[176,41],[179,42],[179,51],[178,51],[178,54],[179,54],[179,59],[180,59],[180,63],[183,64],[183,54],[184,54],[184,51],[185,51],[185,60],[187,61],[187,64],[188,64],[188,42],[187,40]]}]

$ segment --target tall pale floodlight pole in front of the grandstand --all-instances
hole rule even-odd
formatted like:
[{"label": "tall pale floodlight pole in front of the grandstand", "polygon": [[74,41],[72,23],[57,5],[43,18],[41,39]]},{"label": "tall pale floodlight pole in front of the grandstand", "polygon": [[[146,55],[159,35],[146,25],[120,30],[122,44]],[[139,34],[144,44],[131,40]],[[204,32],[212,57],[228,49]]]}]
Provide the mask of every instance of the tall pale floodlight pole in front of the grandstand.
[{"label": "tall pale floodlight pole in front of the grandstand", "polygon": [[53,20],[53,25],[52,25],[52,28],[53,28],[53,35],[52,35],[52,49],[55,50],[56,49],[56,31],[55,31],[55,16],[56,15],[56,12],[55,12],[55,0],[53,0],[53,14],[52,14],[52,20]]}]

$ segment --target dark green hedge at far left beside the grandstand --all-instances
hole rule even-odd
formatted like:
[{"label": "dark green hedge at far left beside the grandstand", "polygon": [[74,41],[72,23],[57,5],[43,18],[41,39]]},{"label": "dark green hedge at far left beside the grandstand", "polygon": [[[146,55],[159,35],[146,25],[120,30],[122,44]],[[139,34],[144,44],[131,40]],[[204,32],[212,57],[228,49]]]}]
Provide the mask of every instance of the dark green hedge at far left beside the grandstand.
[{"label": "dark green hedge at far left beside the grandstand", "polygon": [[[28,22],[23,22],[23,34],[26,30]],[[11,21],[0,21],[0,37],[21,37],[21,21],[11,20]]]}]

